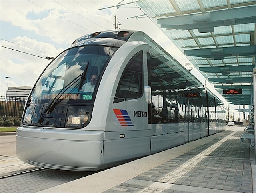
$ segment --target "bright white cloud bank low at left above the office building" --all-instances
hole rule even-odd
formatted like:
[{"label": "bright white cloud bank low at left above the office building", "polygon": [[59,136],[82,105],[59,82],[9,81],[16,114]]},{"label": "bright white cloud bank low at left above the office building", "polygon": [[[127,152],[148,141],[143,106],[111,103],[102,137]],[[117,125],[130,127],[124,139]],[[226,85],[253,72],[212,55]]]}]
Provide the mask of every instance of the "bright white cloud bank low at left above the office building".
[{"label": "bright white cloud bank low at left above the office building", "polygon": [[38,42],[25,36],[14,37],[10,42],[1,41],[1,46],[14,50],[22,50],[22,52],[29,54],[0,47],[0,95],[5,95],[5,88],[7,88],[7,79],[5,76],[12,78],[8,80],[8,86],[33,86],[38,76],[50,62],[50,60],[46,60],[46,56],[55,57],[63,50],[56,49],[52,44]]}]

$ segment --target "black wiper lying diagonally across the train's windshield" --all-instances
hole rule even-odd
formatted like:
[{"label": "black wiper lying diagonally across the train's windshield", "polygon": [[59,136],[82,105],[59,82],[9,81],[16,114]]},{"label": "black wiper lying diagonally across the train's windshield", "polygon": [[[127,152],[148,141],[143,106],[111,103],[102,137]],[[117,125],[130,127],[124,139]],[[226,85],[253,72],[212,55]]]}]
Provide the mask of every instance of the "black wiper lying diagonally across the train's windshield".
[{"label": "black wiper lying diagonally across the train's windshield", "polygon": [[[84,80],[86,79],[85,78],[85,75],[86,75],[86,72],[87,72],[87,69],[88,69],[88,66],[89,66],[89,62],[87,63],[87,66],[86,68],[84,69],[84,72],[82,74],[79,74],[76,78],[74,78],[70,83],[68,83],[64,88],[62,88],[62,90],[60,90],[60,92],[54,97],[54,99],[52,99],[52,102],[46,107],[46,109],[44,110],[44,113],[46,114],[50,114],[52,112],[52,110],[54,109],[58,99],[60,98],[60,96],[62,94],[64,94],[64,92],[66,90],[68,90],[71,86],[73,86],[78,80],[80,80],[80,78],[82,78],[81,82],[80,82],[80,85],[79,85],[79,88],[81,86],[81,84],[84,82]],[[79,79],[78,79],[79,78]],[[78,88],[78,92],[79,92],[79,89]],[[63,100],[63,99],[61,99]]]}]

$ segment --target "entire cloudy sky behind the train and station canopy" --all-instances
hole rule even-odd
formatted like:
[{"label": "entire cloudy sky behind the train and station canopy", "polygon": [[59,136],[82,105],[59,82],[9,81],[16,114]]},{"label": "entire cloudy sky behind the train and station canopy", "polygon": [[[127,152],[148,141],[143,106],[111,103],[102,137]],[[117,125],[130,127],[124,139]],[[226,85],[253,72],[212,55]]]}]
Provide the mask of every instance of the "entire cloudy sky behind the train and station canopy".
[{"label": "entire cloudy sky behind the train and station canopy", "polygon": [[[0,0],[0,96],[7,87],[32,87],[50,63],[46,57],[57,56],[80,36],[114,30],[114,16],[120,29],[144,31],[182,65],[190,63],[150,18],[136,18],[144,12],[135,4],[107,8],[119,2],[132,1]],[[195,68],[191,72],[198,74]],[[197,78],[204,81],[199,74]]]}]

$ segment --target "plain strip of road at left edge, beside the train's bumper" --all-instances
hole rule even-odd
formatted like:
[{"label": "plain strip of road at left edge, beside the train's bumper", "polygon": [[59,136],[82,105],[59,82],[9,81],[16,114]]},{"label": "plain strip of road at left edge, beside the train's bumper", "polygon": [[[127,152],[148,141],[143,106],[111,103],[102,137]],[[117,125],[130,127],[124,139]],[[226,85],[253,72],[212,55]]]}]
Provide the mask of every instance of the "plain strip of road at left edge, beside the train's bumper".
[{"label": "plain strip of road at left edge, beside the train's bumper", "polygon": [[0,157],[16,157],[16,135],[0,136]]}]

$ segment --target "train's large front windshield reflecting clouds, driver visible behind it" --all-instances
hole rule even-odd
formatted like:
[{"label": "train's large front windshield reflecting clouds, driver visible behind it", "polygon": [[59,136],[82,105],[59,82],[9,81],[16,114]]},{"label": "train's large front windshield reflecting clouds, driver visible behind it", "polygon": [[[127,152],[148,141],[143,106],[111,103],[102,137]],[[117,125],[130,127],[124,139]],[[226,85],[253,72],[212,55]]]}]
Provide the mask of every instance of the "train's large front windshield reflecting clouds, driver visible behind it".
[{"label": "train's large front windshield reflecting clouds, driver visible behind it", "polygon": [[117,48],[74,47],[60,54],[42,73],[30,103],[90,103],[104,66]]}]

